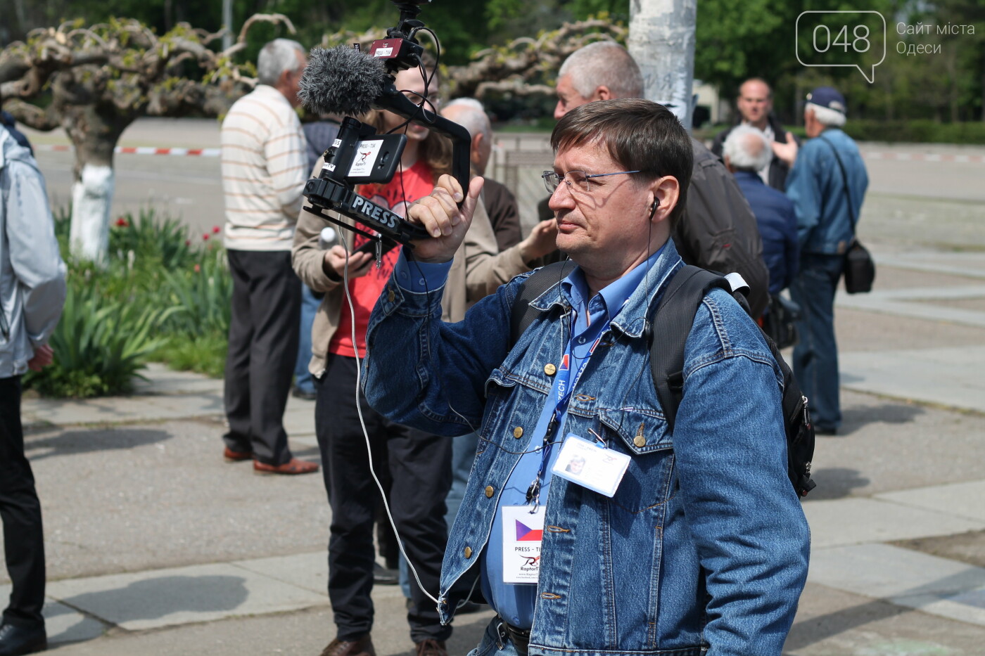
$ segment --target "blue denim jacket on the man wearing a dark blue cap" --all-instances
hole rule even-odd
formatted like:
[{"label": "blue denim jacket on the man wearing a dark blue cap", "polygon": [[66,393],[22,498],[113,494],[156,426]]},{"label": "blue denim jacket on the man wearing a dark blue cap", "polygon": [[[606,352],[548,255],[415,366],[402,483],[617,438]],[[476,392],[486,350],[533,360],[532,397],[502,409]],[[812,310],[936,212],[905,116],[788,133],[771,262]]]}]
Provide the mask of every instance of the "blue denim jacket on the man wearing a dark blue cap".
[{"label": "blue denim jacket on the man wearing a dark blue cap", "polygon": [[[847,194],[841,169],[834,158],[835,150],[845,167]],[[827,255],[844,253],[852,239],[852,212],[858,221],[868,187],[869,174],[858,146],[841,130],[827,128],[820,137],[801,146],[787,177],[787,196],[794,202],[797,212],[797,238],[801,251]]]}]

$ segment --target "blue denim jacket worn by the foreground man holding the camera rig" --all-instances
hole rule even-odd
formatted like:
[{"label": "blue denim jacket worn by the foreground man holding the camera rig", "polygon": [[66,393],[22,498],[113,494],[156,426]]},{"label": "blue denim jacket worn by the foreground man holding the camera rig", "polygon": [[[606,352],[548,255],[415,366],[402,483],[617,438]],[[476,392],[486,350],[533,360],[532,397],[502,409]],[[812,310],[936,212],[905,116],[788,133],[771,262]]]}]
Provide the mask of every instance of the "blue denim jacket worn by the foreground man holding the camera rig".
[{"label": "blue denim jacket worn by the foreground man holding the camera rig", "polygon": [[[780,372],[738,303],[713,291],[689,334],[669,433],[644,317],[680,266],[668,243],[573,390],[564,434],[595,431],[631,462],[613,498],[552,482],[535,656],[778,656],[793,622],[810,536],[786,475]],[[363,385],[377,411],[448,436],[480,431],[442,566],[444,622],[459,601],[452,585],[497,539],[501,486],[547,400],[545,365],[562,352],[570,299],[559,286],[532,301],[543,314],[510,348],[510,306],[524,279],[453,324],[440,321],[440,294],[391,280],[369,321]]]}]

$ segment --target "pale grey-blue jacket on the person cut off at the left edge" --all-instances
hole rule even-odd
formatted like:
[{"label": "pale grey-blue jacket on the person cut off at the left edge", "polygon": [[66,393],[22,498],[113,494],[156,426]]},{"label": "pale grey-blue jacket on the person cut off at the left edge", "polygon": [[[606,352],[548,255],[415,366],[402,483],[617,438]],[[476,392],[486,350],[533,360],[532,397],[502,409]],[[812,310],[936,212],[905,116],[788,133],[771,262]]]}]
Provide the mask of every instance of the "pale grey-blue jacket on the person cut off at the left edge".
[{"label": "pale grey-blue jacket on the person cut off at the left edge", "polygon": [[58,325],[65,263],[31,151],[0,129],[0,378],[27,371]]}]

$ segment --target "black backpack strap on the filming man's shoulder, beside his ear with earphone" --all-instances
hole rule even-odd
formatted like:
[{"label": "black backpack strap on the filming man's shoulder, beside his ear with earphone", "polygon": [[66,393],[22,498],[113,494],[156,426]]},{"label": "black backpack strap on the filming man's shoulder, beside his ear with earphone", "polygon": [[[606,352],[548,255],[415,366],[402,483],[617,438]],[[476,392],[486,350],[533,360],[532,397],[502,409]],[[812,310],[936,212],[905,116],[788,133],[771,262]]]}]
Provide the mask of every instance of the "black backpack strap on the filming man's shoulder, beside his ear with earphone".
[{"label": "black backpack strap on the filming man's shoulder, beside his ear with earphone", "polygon": [[650,343],[650,369],[657,399],[674,432],[674,420],[684,395],[684,347],[694,314],[708,292],[720,288],[732,294],[721,276],[688,265],[678,271],[667,285],[660,303],[651,309],[647,326]]}]

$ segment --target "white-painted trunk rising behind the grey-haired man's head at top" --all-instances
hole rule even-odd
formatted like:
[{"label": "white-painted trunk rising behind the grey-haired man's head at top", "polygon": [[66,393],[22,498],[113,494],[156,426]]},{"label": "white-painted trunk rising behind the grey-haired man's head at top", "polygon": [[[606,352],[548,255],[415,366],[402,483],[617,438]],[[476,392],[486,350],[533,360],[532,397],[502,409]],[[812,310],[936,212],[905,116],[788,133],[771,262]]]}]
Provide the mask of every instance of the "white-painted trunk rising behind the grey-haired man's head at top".
[{"label": "white-painted trunk rising behind the grey-haired man's head at top", "polygon": [[643,74],[645,98],[666,104],[690,130],[694,100],[697,0],[630,0],[629,54]]}]

